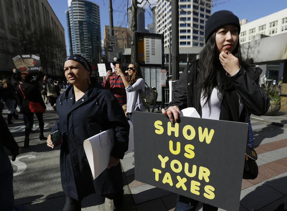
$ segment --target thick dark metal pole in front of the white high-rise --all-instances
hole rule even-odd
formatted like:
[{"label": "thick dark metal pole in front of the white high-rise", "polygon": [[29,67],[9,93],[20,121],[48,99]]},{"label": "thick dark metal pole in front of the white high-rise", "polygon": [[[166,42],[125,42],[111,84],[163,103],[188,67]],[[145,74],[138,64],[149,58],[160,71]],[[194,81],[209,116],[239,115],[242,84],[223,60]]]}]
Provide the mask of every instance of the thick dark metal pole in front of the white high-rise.
[{"label": "thick dark metal pole in front of the white high-rise", "polygon": [[[172,80],[179,79],[179,1],[171,1]],[[173,86],[174,87],[174,86]]]}]

